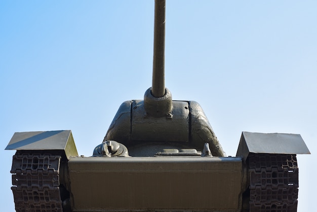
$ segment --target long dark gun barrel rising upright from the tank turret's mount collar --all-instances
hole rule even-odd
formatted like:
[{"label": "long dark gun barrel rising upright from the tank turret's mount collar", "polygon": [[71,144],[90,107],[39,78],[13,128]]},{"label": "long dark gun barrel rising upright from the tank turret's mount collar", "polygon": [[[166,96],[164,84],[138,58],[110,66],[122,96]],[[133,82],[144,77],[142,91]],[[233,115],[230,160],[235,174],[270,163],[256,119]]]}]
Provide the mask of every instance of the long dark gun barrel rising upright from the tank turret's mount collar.
[{"label": "long dark gun barrel rising upright from the tank turret's mount collar", "polygon": [[151,93],[154,97],[165,95],[165,0],[155,0],[154,48]]}]

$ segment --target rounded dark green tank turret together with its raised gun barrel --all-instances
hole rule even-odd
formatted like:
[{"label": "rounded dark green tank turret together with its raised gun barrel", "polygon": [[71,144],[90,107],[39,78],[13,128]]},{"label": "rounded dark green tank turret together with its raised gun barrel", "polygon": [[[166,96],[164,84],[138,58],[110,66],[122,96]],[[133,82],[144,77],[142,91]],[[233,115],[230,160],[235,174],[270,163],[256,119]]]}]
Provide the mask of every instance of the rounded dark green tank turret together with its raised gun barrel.
[{"label": "rounded dark green tank turret together with its raised gun barrel", "polygon": [[157,148],[164,147],[202,151],[205,143],[213,156],[225,156],[200,105],[172,100],[165,87],[164,64],[165,1],[155,1],[152,87],[145,91],[143,100],[122,103],[104,140],[126,145],[133,156],[153,156]]}]

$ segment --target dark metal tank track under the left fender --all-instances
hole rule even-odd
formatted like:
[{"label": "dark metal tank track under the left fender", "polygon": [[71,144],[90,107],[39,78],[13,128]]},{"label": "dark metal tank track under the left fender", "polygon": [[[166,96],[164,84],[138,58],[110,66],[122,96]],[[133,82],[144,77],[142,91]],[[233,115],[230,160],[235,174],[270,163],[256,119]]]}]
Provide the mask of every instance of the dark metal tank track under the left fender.
[{"label": "dark metal tank track under the left fender", "polygon": [[63,211],[60,162],[60,155],[17,151],[11,169],[11,189],[17,212]]}]

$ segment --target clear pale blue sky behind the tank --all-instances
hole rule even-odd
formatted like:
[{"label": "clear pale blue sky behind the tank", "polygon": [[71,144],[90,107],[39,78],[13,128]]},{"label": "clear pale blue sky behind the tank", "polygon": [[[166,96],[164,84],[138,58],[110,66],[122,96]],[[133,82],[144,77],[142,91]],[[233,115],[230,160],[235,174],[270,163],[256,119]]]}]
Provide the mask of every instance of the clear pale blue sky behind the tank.
[{"label": "clear pale blue sky behind the tank", "polygon": [[[202,105],[224,151],[242,131],[301,134],[298,211],[317,186],[317,1],[167,1],[166,87]],[[1,211],[14,132],[72,130],[80,155],[151,86],[154,1],[1,1]]]}]

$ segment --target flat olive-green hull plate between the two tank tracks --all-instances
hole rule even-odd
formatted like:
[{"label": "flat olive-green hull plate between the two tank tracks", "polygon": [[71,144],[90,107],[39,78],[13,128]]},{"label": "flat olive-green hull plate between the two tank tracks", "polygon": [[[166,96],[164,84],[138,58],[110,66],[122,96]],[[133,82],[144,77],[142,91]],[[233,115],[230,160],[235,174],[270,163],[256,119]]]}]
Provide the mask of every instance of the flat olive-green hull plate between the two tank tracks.
[{"label": "flat olive-green hull plate between the two tank tracks", "polygon": [[[73,211],[241,211],[240,157],[70,158]],[[246,180],[245,180],[246,181]]]}]

